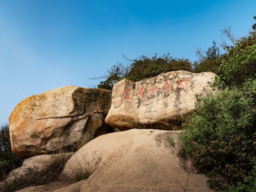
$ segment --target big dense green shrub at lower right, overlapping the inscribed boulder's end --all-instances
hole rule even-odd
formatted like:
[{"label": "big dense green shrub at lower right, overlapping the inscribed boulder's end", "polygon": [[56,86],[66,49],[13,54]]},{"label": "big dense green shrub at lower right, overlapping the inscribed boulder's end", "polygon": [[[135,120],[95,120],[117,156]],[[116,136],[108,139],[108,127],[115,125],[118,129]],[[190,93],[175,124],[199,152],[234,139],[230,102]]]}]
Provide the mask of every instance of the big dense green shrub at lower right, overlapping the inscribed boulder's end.
[{"label": "big dense green shrub at lower right, overlapping the inscribed boulder's end", "polygon": [[[193,157],[198,171],[223,177],[229,185],[242,181],[256,157],[256,80],[219,96],[197,95],[196,109],[186,118],[181,150]],[[218,185],[220,180],[213,181]]]}]

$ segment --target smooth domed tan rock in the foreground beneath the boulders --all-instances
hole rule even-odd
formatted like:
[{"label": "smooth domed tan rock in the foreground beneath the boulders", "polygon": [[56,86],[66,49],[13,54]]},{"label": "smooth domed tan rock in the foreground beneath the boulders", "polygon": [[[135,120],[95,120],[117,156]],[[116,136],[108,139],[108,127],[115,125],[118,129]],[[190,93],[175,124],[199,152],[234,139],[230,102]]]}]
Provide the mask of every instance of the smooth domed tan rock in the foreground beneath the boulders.
[{"label": "smooth domed tan rock in the foreground beneath the boulders", "polygon": [[[190,159],[179,154],[179,131],[131,129],[109,133],[85,144],[60,176],[96,171],[80,192],[208,192],[208,177],[196,174]],[[171,146],[166,137],[175,140]]]}]

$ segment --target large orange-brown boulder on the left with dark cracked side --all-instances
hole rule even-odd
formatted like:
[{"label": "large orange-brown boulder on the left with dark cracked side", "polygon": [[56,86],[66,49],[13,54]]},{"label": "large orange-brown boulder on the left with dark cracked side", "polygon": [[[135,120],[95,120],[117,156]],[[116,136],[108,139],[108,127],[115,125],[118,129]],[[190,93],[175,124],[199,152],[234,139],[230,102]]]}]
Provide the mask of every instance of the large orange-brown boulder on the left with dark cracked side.
[{"label": "large orange-brown boulder on the left with dark cracked side", "polygon": [[107,133],[111,94],[65,86],[21,101],[9,118],[13,153],[20,157],[45,154],[74,144],[86,131]]}]

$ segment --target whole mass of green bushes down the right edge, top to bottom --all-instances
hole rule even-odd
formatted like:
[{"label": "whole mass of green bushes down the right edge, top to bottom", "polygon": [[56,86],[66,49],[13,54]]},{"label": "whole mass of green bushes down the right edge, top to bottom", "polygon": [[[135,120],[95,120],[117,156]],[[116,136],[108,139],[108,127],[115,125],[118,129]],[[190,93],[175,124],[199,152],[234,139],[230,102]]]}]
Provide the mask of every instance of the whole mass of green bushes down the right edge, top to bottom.
[{"label": "whole mass of green bushes down the right edge, top to bottom", "polygon": [[[254,17],[256,19],[256,17]],[[255,26],[255,25],[254,25]],[[219,58],[218,96],[197,95],[183,123],[181,149],[214,189],[256,191],[256,32],[235,39]]]}]

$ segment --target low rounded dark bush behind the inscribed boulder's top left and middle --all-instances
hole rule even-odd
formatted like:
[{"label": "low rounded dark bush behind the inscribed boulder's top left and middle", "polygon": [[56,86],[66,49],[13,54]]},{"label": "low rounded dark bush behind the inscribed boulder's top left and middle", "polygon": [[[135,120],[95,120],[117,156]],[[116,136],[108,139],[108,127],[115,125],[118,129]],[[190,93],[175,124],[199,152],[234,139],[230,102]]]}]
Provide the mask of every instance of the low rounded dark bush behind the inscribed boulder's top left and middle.
[{"label": "low rounded dark bush behind the inscribed boulder's top left and middle", "polygon": [[169,54],[164,54],[157,58],[156,54],[152,58],[142,56],[139,59],[130,60],[132,63],[128,66],[117,64],[107,71],[108,75],[102,78],[107,80],[101,81],[98,88],[112,90],[113,85],[120,80],[128,79],[139,81],[155,77],[162,73],[176,70],[192,71],[192,64],[188,59],[173,59]]}]

